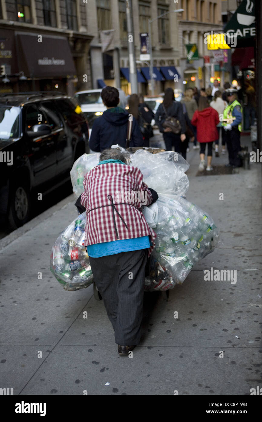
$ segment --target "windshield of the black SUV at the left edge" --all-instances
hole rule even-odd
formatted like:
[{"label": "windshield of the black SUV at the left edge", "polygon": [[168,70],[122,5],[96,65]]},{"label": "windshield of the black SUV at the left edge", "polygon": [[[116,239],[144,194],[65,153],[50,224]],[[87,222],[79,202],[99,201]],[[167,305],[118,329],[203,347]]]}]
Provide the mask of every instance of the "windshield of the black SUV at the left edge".
[{"label": "windshield of the black SUV at the left edge", "polygon": [[0,105],[0,139],[19,137],[19,107]]}]

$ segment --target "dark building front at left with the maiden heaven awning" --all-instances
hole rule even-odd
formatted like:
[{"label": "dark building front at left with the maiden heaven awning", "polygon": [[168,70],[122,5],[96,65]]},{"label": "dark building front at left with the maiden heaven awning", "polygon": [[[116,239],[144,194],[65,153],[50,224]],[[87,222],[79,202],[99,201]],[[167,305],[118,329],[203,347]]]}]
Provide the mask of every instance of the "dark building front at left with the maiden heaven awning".
[{"label": "dark building front at left with the maiden heaven awning", "polygon": [[91,89],[92,38],[83,0],[0,0],[0,92]]}]

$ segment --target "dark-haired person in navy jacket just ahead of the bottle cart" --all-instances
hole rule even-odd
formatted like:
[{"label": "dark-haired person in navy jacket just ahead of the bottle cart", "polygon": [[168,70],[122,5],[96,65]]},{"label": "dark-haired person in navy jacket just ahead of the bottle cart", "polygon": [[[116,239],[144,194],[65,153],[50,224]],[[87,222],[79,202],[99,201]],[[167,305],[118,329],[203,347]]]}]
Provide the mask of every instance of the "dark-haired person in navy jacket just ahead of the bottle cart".
[{"label": "dark-haired person in navy jacket just ahead of the bottle cart", "polygon": [[129,146],[143,146],[143,138],[137,120],[133,117],[130,123],[128,112],[118,106],[118,89],[109,86],[103,88],[101,98],[106,106],[106,111],[94,121],[89,139],[90,149],[99,152],[117,143],[125,148],[127,127],[130,128],[130,126],[131,137]]}]

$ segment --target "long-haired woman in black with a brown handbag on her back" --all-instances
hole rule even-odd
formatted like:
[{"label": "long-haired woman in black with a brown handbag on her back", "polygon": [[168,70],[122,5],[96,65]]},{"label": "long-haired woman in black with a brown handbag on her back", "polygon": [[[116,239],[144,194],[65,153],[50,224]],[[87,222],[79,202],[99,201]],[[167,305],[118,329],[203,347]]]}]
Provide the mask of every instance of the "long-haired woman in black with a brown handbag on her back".
[{"label": "long-haired woman in black with a brown handbag on her back", "polygon": [[172,88],[167,88],[163,103],[160,104],[156,112],[156,124],[164,136],[164,142],[167,151],[180,153],[181,142],[185,141],[185,117],[182,104],[175,101],[175,95]]}]

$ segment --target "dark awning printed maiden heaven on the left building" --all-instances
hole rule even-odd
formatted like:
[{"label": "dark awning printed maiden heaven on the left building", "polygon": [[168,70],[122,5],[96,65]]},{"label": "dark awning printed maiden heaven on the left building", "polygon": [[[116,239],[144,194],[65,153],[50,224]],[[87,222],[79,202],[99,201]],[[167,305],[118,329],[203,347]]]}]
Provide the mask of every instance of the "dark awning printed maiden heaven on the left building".
[{"label": "dark awning printed maiden heaven on the left building", "polygon": [[31,78],[67,77],[76,74],[67,38],[16,33],[19,41],[19,62],[24,74]]}]

